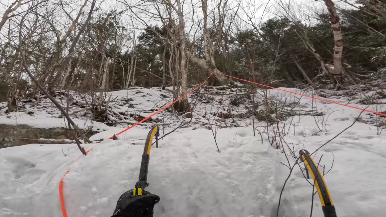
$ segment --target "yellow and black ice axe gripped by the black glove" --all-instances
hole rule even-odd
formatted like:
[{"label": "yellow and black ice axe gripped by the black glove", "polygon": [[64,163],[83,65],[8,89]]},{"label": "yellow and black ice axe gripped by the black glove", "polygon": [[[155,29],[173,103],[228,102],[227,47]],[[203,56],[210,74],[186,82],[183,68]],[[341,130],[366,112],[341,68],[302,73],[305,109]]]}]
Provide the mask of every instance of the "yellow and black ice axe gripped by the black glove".
[{"label": "yellow and black ice axe gripped by the black glove", "polygon": [[154,125],[154,127],[152,127],[146,137],[144,152],[142,154],[141,168],[139,170],[139,180],[137,181],[134,187],[134,196],[142,195],[142,190],[149,185],[147,183],[147,170],[149,168],[150,149],[154,136],[156,137],[158,147],[159,128],[157,125]]}]

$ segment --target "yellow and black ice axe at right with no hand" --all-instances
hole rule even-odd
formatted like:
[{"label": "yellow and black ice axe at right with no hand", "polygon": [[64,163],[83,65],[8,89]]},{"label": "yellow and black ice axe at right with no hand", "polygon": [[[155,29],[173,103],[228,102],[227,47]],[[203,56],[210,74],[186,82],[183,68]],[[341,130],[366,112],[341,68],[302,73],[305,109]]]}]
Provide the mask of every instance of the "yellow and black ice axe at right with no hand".
[{"label": "yellow and black ice axe at right with no hand", "polygon": [[330,192],[328,192],[327,185],[318,169],[318,166],[315,164],[307,150],[300,150],[299,154],[300,158],[306,166],[306,169],[311,173],[311,176],[314,180],[315,187],[319,194],[320,202],[322,203],[324,217],[337,217]]}]

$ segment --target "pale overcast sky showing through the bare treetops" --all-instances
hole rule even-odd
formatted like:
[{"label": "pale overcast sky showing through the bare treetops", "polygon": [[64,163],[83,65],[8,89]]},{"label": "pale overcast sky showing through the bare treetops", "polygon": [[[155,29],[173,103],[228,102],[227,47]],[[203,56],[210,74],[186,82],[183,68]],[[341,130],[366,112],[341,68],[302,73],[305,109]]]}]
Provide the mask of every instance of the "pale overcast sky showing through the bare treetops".
[{"label": "pale overcast sky showing through the bare treetops", "polygon": [[[52,2],[57,2],[58,0],[52,0]],[[80,6],[83,4],[84,0],[63,0],[64,2],[70,3],[70,5],[66,8],[66,11],[72,15],[72,17],[76,17],[76,13],[78,12]],[[161,1],[161,0],[158,0]],[[227,5],[229,8],[233,8],[232,11],[235,12],[237,9],[237,6],[239,4],[239,0],[228,0]],[[1,10],[1,17],[3,17],[3,13],[5,11],[6,6],[9,6],[14,0],[0,0],[0,10]],[[112,8],[117,9],[117,11],[122,11],[127,8],[124,3],[124,0],[98,0],[98,8],[104,9],[104,10],[110,10]],[[141,1],[139,0],[127,0],[127,3],[130,5],[137,5]],[[208,0],[208,13],[216,13],[217,14],[217,5],[219,0]],[[222,0],[222,2],[225,2],[225,0]],[[319,10],[319,11],[326,11],[326,7],[324,5],[323,0],[241,0],[240,7],[237,11],[238,16],[236,17],[235,23],[239,23],[239,27],[242,29],[246,28],[252,28],[251,25],[246,24],[245,22],[242,22],[242,20],[249,21],[248,17],[252,18],[252,21],[258,25],[260,22],[269,19],[271,17],[274,17],[276,15],[282,14],[282,8],[280,7],[281,2],[285,4],[291,3],[291,8],[296,12],[295,14],[297,16],[301,17],[301,14],[313,14],[313,10]],[[340,0],[334,1],[338,6],[340,7],[347,7],[347,4],[342,3]],[[192,7],[192,5],[194,5]],[[161,7],[162,8],[162,7]],[[202,26],[202,10],[201,10],[201,1],[200,0],[185,0],[183,2],[183,8],[184,8],[184,19],[185,19],[185,26],[186,26],[186,32],[191,31],[190,36],[194,36],[194,32],[196,30],[200,29],[200,26]],[[194,10],[193,10],[194,8]],[[86,17],[88,13],[89,8],[84,8],[84,16],[83,19]],[[162,9],[161,9],[162,10]],[[162,23],[159,20],[156,20],[152,17],[150,12],[156,13],[155,7],[153,5],[145,5],[142,3],[141,7],[139,8],[133,8],[133,11],[136,15],[141,17],[144,21],[146,21],[148,24],[151,25],[162,25]],[[70,20],[68,17],[59,10],[59,14],[55,16],[56,24],[58,25],[58,29],[66,29],[66,27],[63,25],[65,23],[69,23]],[[145,25],[137,19],[135,16],[133,19],[132,12],[130,10],[126,11],[122,15],[122,19],[124,20],[127,27],[130,27],[130,29],[135,28],[136,35],[138,36],[141,28],[144,28]],[[212,18],[213,14],[210,14],[210,17]],[[230,17],[231,13],[229,14]],[[312,16],[311,16],[312,17]],[[174,19],[176,19],[176,16],[174,16]],[[302,19],[301,19],[302,20]],[[211,23],[210,20],[208,20],[209,25]],[[4,31],[4,28],[3,28]],[[3,32],[2,31],[2,32]],[[201,36],[201,33],[196,34],[196,37]]]}]

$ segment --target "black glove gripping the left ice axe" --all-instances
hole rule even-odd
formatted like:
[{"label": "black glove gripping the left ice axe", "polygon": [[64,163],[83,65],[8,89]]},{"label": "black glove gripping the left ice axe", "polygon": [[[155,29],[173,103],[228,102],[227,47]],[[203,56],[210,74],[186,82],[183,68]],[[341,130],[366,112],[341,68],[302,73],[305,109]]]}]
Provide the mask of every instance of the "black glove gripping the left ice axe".
[{"label": "black glove gripping the left ice axe", "polygon": [[112,217],[153,217],[153,208],[159,197],[145,190],[139,196],[133,196],[133,192],[130,190],[120,196]]}]

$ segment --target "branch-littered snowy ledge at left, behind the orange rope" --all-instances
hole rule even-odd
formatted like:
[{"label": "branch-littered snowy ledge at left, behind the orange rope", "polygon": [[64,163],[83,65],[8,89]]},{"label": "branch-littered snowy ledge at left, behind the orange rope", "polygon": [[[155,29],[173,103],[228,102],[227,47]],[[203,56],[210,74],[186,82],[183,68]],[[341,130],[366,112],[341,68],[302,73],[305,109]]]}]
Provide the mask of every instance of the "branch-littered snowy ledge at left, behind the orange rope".
[{"label": "branch-littered snowy ledge at left, behind the orange rope", "polygon": [[[93,131],[101,132],[111,129],[109,126],[124,126],[136,123],[144,119],[154,111],[162,108],[170,102],[170,93],[159,88],[130,88],[107,92],[103,97],[103,105],[108,102],[106,119],[96,117],[98,112],[91,112],[91,102],[98,100],[97,95],[77,93],[70,91],[58,92],[56,100],[64,107],[69,100],[69,114],[73,117],[75,124],[81,129],[93,127]],[[66,127],[67,121],[53,103],[44,96],[41,98],[23,101],[23,109],[20,112],[7,113],[7,103],[0,104],[0,123],[19,125],[26,124],[37,128]],[[162,114],[154,116],[151,120],[163,118]]]}]

